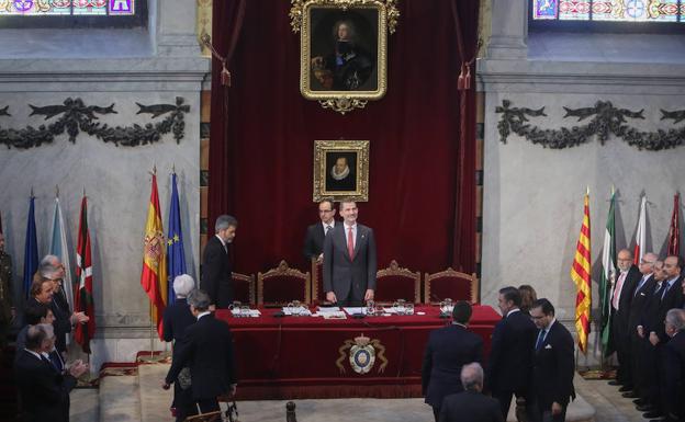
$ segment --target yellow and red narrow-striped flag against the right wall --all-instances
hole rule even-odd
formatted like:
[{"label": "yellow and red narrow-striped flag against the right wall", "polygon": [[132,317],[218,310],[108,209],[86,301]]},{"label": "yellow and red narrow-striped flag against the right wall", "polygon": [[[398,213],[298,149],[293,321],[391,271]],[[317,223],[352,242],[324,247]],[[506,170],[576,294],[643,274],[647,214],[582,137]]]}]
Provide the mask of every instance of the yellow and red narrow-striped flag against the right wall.
[{"label": "yellow and red narrow-striped flag against the right wall", "polygon": [[571,278],[575,283],[575,330],[579,334],[579,347],[581,352],[587,351],[587,338],[589,337],[589,307],[592,282],[589,278],[589,194],[585,194],[583,225],[575,247],[575,258],[571,266]]}]

